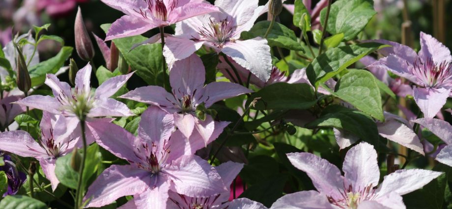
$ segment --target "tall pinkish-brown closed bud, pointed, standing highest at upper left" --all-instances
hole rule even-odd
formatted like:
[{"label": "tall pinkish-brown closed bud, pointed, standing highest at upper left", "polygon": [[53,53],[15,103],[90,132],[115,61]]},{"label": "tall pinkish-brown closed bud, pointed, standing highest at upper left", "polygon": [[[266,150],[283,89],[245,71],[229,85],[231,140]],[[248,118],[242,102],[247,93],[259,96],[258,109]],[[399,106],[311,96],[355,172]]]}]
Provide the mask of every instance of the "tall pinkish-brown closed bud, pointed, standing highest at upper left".
[{"label": "tall pinkish-brown closed bud, pointed, standing highest at upper left", "polygon": [[74,32],[77,54],[82,60],[91,60],[94,57],[94,47],[92,45],[91,38],[89,38],[88,32],[86,31],[80,7],[77,11],[77,16],[75,17]]}]

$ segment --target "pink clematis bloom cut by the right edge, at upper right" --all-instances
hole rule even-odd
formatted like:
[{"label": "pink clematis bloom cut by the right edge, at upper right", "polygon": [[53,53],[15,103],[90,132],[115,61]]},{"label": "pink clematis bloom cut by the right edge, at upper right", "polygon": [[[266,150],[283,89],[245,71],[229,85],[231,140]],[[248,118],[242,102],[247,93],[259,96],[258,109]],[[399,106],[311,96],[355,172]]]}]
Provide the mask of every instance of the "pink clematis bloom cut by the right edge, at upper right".
[{"label": "pink clematis bloom cut by the right edge, at upper right", "polygon": [[418,85],[413,88],[416,104],[425,118],[435,117],[452,95],[452,56],[449,49],[424,32],[421,32],[419,55],[401,44],[384,40],[377,42],[389,43],[394,47],[387,57],[370,67],[389,70]]}]

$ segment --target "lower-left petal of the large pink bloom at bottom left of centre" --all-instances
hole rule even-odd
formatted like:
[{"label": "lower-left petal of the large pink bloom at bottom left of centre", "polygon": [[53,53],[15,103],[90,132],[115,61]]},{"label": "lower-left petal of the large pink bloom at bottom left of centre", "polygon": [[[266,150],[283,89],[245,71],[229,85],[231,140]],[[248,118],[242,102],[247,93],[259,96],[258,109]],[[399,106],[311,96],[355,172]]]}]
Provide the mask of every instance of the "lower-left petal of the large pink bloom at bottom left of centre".
[{"label": "lower-left petal of the large pink bloom at bottom left of centre", "polygon": [[86,207],[100,208],[120,197],[139,194],[149,187],[150,176],[148,171],[131,165],[112,165],[89,186]]}]

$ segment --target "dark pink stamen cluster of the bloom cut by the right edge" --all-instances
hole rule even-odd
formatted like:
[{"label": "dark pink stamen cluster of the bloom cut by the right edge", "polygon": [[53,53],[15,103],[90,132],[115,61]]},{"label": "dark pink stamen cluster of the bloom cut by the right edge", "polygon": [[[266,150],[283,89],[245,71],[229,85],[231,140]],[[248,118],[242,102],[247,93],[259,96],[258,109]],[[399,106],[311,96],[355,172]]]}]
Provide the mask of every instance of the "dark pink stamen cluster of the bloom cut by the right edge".
[{"label": "dark pink stamen cluster of the bloom cut by the right edge", "polygon": [[416,60],[411,68],[411,73],[415,75],[424,87],[441,88],[452,86],[451,63],[435,63],[431,58],[425,62]]}]

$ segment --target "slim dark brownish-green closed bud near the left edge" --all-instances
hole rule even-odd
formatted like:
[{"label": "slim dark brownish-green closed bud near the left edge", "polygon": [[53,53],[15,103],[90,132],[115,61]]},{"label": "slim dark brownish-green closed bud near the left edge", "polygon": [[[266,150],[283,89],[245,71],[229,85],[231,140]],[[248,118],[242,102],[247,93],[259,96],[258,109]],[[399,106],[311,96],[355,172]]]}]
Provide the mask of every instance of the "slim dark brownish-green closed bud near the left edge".
[{"label": "slim dark brownish-green closed bud near the left edge", "polygon": [[[13,42],[14,43],[14,42]],[[30,74],[28,73],[27,62],[25,61],[24,55],[20,47],[14,43],[17,51],[16,67],[17,67],[17,79],[16,84],[19,90],[27,93],[31,88]]]}]

